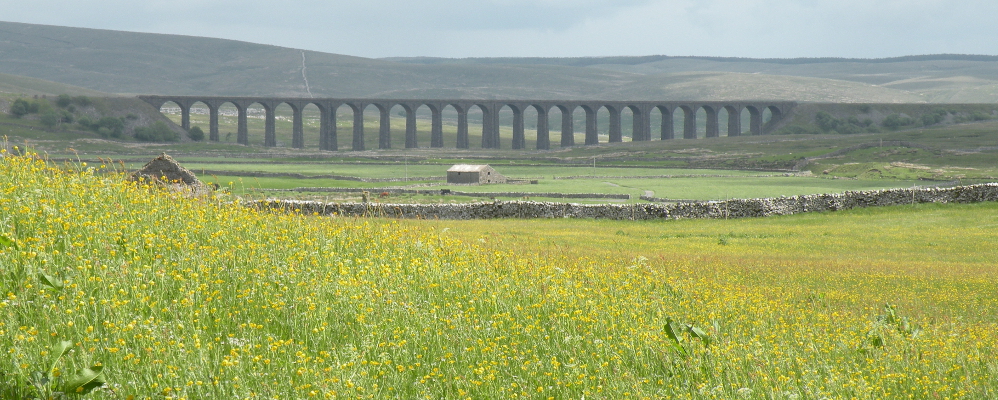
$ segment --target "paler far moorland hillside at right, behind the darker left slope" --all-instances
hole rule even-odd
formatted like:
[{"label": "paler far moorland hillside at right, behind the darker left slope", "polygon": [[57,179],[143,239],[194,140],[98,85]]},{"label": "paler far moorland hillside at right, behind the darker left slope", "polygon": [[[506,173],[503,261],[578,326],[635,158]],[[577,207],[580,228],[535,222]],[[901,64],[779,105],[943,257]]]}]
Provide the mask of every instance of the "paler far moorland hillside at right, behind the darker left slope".
[{"label": "paler far moorland hillside at right, behind the darker left slope", "polygon": [[[908,56],[885,59],[798,58],[752,59],[724,57],[580,57],[580,58],[390,58],[395,62],[424,65],[557,65],[578,68],[630,72],[654,77],[711,71],[715,73],[752,74],[743,78],[753,85],[774,80],[772,77],[817,78],[804,82],[818,92],[841,87],[843,81],[855,83],[865,93],[860,99],[878,98],[878,94],[897,96],[902,101],[932,103],[998,102],[998,57],[959,54]],[[767,76],[769,78],[767,79]],[[696,82],[704,91],[714,82]],[[829,87],[825,87],[829,86]],[[879,90],[887,89],[887,90]],[[739,94],[753,93],[745,88]],[[798,96],[794,91],[780,92],[800,101],[839,101],[831,97]],[[765,98],[765,96],[759,96]],[[818,100],[814,98],[817,97]],[[782,97],[781,97],[782,98]],[[910,100],[917,99],[917,100]],[[844,100],[851,101],[851,100]],[[873,100],[861,100],[873,102]]]}]

